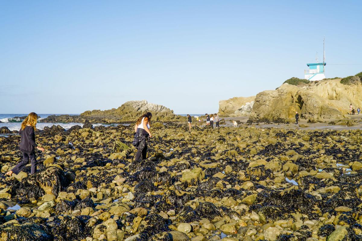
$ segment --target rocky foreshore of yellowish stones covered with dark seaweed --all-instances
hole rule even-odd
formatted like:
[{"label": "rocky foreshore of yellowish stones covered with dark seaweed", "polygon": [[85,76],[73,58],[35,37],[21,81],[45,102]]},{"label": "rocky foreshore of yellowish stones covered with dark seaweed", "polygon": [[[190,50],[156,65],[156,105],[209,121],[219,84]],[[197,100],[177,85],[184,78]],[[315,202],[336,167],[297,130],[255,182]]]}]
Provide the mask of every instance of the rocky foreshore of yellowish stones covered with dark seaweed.
[{"label": "rocky foreshore of yellowish stones covered with dark seaweed", "polygon": [[38,172],[13,177],[1,137],[1,240],[362,240],[361,130],[167,122],[136,162],[132,129],[39,131]]}]

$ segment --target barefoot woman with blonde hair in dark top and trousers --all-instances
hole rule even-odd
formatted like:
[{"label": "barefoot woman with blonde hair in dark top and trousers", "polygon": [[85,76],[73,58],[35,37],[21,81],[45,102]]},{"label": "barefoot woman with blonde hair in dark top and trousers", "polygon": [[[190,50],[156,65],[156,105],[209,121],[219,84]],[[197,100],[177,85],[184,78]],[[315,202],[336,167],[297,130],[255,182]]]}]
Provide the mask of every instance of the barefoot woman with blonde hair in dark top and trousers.
[{"label": "barefoot woman with blonde hair in dark top and trousers", "polygon": [[28,164],[29,159],[31,163],[30,174],[33,175],[37,171],[37,159],[35,158],[35,148],[44,151],[43,147],[38,147],[35,143],[35,133],[37,129],[38,115],[31,112],[25,120],[21,123],[19,134],[21,135],[19,149],[22,151],[23,159],[13,169],[6,173],[7,176],[11,177],[13,173],[16,175]]}]

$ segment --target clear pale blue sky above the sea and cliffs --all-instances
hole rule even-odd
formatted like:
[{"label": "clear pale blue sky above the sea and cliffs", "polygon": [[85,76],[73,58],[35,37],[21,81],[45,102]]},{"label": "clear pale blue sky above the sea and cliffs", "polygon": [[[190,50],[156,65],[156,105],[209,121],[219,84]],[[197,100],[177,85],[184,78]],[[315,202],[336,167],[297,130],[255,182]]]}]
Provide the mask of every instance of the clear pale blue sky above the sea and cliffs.
[{"label": "clear pale blue sky above the sea and cliffs", "polygon": [[0,113],[147,99],[175,113],[362,71],[361,1],[0,1]]}]

